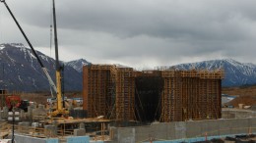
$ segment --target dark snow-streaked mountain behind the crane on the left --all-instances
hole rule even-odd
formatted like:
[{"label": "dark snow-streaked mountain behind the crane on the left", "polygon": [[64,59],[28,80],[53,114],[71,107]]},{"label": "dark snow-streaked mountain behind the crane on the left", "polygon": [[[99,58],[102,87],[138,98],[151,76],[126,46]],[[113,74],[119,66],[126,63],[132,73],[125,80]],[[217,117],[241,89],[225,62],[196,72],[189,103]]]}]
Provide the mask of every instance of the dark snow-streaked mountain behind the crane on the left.
[{"label": "dark snow-streaked mountain behind the crane on the left", "polygon": [[[36,51],[55,81],[55,60]],[[72,67],[64,67],[64,89],[82,90],[82,74]],[[20,43],[0,44],[0,88],[16,91],[49,91],[48,80],[32,54]]]}]

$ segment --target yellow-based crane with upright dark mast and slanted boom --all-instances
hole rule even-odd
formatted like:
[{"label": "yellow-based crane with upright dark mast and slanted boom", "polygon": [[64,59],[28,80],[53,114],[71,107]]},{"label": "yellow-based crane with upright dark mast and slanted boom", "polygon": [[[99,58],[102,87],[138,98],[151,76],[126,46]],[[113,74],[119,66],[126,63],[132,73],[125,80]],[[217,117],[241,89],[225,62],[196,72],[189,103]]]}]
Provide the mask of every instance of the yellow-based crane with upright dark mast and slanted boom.
[{"label": "yellow-based crane with upright dark mast and slanted boom", "polygon": [[50,112],[48,115],[50,117],[67,116],[69,114],[69,112],[67,111],[67,109],[65,109],[63,107],[63,103],[62,103],[62,97],[63,97],[62,96],[62,89],[61,89],[61,78],[62,77],[61,77],[61,66],[59,64],[59,57],[58,57],[58,38],[57,38],[55,0],[52,0],[52,5],[53,5],[52,10],[53,10],[53,26],[54,26],[55,61],[56,61],[56,85],[54,84],[52,78],[50,77],[47,69],[43,66],[41,60],[39,59],[38,55],[36,54],[35,50],[32,47],[32,43],[30,42],[28,36],[24,32],[22,26],[16,20],[15,16],[13,15],[13,13],[12,13],[11,9],[9,8],[9,6],[7,5],[6,1],[5,0],[0,0],[0,2],[2,2],[5,5],[8,12],[12,16],[13,20],[15,21],[15,23],[19,27],[20,31],[22,32],[23,36],[25,37],[26,41],[28,42],[29,46],[32,49],[32,54],[35,56],[36,60],[38,61],[42,71],[45,73],[51,88],[55,91],[56,99],[57,99],[57,108],[53,112]]}]

